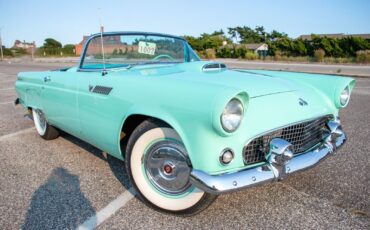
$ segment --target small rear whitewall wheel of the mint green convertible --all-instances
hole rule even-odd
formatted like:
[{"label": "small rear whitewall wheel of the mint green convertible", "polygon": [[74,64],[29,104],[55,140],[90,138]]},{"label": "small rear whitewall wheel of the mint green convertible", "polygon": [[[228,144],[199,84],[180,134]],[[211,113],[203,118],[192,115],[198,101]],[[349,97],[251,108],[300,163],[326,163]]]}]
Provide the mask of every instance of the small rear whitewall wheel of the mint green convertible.
[{"label": "small rear whitewall wheel of the mint green convertible", "polygon": [[58,130],[49,125],[42,110],[32,109],[32,117],[36,131],[43,139],[53,140],[59,136]]}]

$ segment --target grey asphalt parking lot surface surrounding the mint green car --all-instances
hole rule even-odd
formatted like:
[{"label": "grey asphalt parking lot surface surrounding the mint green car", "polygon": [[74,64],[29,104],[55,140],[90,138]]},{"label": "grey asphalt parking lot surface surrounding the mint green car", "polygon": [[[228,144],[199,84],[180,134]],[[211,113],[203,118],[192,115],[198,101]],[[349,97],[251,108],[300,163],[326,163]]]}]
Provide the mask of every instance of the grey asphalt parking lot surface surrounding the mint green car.
[{"label": "grey asphalt parking lot surface surrounding the mint green car", "polygon": [[14,107],[18,72],[65,65],[0,64],[1,229],[370,229],[370,78],[341,111],[349,140],[335,157],[180,218],[134,198],[122,162],[68,134],[44,141]]}]

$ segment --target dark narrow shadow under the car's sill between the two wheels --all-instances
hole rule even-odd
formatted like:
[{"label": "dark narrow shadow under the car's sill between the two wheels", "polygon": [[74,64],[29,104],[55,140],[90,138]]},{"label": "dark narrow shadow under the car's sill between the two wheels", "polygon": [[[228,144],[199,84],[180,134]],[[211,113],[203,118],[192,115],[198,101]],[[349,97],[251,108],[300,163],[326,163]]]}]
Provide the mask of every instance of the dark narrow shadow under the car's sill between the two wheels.
[{"label": "dark narrow shadow under the car's sill between the two wheels", "polygon": [[[113,172],[113,175],[116,177],[116,179],[122,184],[122,186],[124,186],[127,190],[129,190],[132,185],[128,179],[128,176],[126,174],[126,169],[125,169],[125,164],[123,163],[123,161],[115,158],[115,157],[112,157],[110,156],[109,154],[103,154],[103,151],[90,145],[89,143],[87,142],[84,142],[83,140],[80,140],[68,133],[65,133],[65,132],[62,132],[61,133],[61,136],[77,145],[78,147],[84,149],[85,151],[91,153],[92,155],[94,155],[95,157],[98,157],[99,159],[101,160],[104,160],[108,163],[111,171]],[[131,191],[131,190],[130,190]]]}]

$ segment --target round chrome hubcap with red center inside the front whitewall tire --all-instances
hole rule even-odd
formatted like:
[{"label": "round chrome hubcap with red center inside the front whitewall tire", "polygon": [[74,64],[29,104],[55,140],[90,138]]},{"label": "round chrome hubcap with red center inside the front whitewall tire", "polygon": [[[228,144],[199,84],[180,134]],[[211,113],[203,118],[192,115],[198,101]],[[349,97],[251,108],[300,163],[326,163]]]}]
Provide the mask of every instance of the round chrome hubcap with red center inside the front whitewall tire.
[{"label": "round chrome hubcap with red center inside the front whitewall tire", "polygon": [[143,163],[150,182],[161,192],[180,195],[191,186],[189,160],[179,143],[168,140],[155,143],[147,150]]}]

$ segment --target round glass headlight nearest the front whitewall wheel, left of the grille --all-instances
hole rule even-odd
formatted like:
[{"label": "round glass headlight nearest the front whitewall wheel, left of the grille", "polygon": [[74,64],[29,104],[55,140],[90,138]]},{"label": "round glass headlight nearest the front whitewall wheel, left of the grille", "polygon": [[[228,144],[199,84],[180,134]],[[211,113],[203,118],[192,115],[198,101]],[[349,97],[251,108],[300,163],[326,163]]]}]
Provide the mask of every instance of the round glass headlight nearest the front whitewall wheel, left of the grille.
[{"label": "round glass headlight nearest the front whitewall wheel, left of the grille", "polygon": [[231,99],[221,114],[222,128],[228,133],[234,132],[243,119],[243,113],[243,104],[236,98]]}]

